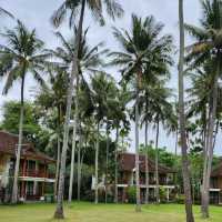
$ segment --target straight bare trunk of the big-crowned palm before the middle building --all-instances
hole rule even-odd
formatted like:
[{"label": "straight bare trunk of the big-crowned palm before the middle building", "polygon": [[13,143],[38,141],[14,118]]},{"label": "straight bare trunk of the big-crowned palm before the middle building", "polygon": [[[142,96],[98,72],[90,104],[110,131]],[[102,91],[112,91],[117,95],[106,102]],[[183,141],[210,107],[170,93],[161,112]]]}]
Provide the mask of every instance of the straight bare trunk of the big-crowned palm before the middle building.
[{"label": "straight bare trunk of the big-crowned palm before the middle building", "polygon": [[137,85],[137,100],[135,100],[135,186],[137,186],[137,205],[135,211],[141,211],[141,202],[140,202],[140,148],[139,148],[139,83],[138,80]]}]

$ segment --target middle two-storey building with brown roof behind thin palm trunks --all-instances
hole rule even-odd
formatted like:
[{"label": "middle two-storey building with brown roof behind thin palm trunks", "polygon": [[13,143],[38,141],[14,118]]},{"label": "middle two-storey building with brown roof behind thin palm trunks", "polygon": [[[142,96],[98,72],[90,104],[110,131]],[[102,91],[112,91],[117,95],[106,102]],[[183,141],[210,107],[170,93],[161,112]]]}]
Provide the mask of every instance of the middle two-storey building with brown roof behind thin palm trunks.
[{"label": "middle two-storey building with brown roof behind thin palm trunks", "polygon": [[[140,155],[140,191],[141,201],[145,200],[145,155]],[[155,164],[154,161],[148,160],[149,168],[149,200],[155,200]],[[159,183],[160,188],[167,192],[167,201],[174,199],[174,174],[175,170],[159,164]],[[122,153],[119,155],[119,183],[118,195],[120,202],[128,202],[128,188],[135,185],[135,154]]]}]

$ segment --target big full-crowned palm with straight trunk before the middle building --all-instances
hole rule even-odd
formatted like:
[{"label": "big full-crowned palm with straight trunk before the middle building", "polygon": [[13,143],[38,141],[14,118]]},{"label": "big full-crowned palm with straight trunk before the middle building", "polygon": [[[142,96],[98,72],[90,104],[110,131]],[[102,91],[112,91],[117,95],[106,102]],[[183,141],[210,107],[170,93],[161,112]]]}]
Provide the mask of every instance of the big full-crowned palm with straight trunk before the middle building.
[{"label": "big full-crowned palm with straight trunk before the middle building", "polygon": [[[137,16],[132,16],[131,33],[114,29],[114,37],[120,42],[123,50],[110,53],[113,57],[112,64],[122,67],[122,75],[127,82],[132,79],[135,82],[135,181],[137,181],[137,208],[140,206],[140,184],[139,184],[139,93],[142,87],[143,75],[149,74],[149,67],[152,64],[155,73],[162,73],[165,63],[171,62],[169,52],[171,51],[172,38],[170,36],[159,37],[163,26],[155,23],[153,17],[148,17],[144,21]],[[163,59],[164,58],[164,59]]]}]

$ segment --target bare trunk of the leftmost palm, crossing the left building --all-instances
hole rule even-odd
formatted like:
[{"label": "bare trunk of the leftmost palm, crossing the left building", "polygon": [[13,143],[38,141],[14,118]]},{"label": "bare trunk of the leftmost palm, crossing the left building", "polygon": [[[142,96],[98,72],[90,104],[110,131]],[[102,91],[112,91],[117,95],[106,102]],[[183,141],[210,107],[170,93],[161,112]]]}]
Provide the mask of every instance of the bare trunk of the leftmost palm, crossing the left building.
[{"label": "bare trunk of the leftmost palm, crossing the left building", "polygon": [[23,117],[24,117],[24,75],[21,80],[21,108],[20,108],[20,120],[19,120],[19,144],[17,150],[17,160],[14,168],[14,176],[13,176],[13,186],[12,186],[12,196],[11,202],[18,202],[18,178],[19,178],[19,167],[20,167],[20,158],[21,158],[21,148],[22,148],[22,137],[23,137]]}]

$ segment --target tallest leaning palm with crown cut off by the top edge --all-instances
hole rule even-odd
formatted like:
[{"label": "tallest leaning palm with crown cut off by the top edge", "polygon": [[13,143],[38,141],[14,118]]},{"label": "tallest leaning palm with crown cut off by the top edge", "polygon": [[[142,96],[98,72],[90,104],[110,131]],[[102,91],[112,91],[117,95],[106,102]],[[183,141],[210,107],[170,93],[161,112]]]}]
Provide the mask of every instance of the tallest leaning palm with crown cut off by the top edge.
[{"label": "tallest leaning palm with crown cut off by the top edge", "polygon": [[[115,17],[121,17],[123,10],[121,6],[115,0],[64,0],[61,7],[53,13],[51,20],[56,27],[59,27],[65,19],[67,14],[69,16],[69,24],[70,28],[73,28],[74,18],[77,12],[80,9],[80,19],[78,22],[77,37],[74,40],[74,53],[72,58],[72,68],[70,75],[70,85],[68,91],[68,100],[67,100],[67,114],[64,121],[64,133],[63,133],[63,148],[62,148],[62,159],[61,159],[61,169],[60,169],[60,183],[59,183],[59,193],[58,193],[58,204],[54,213],[54,218],[61,219],[63,215],[63,186],[64,186],[64,172],[65,172],[65,160],[67,160],[67,149],[68,149],[68,135],[69,135],[69,122],[71,114],[71,103],[72,103],[72,93],[73,93],[73,80],[79,74],[78,70],[78,53],[82,34],[82,26],[84,19],[85,6],[88,6],[89,10],[92,12],[93,18],[100,23],[104,23],[104,19],[102,16],[103,8],[105,7],[107,12],[111,16],[112,19]],[[78,87],[77,87],[78,88]],[[77,99],[77,97],[75,97]],[[75,102],[78,104],[78,102]],[[77,114],[75,114],[77,115]],[[77,124],[77,123],[74,123]]]}]

